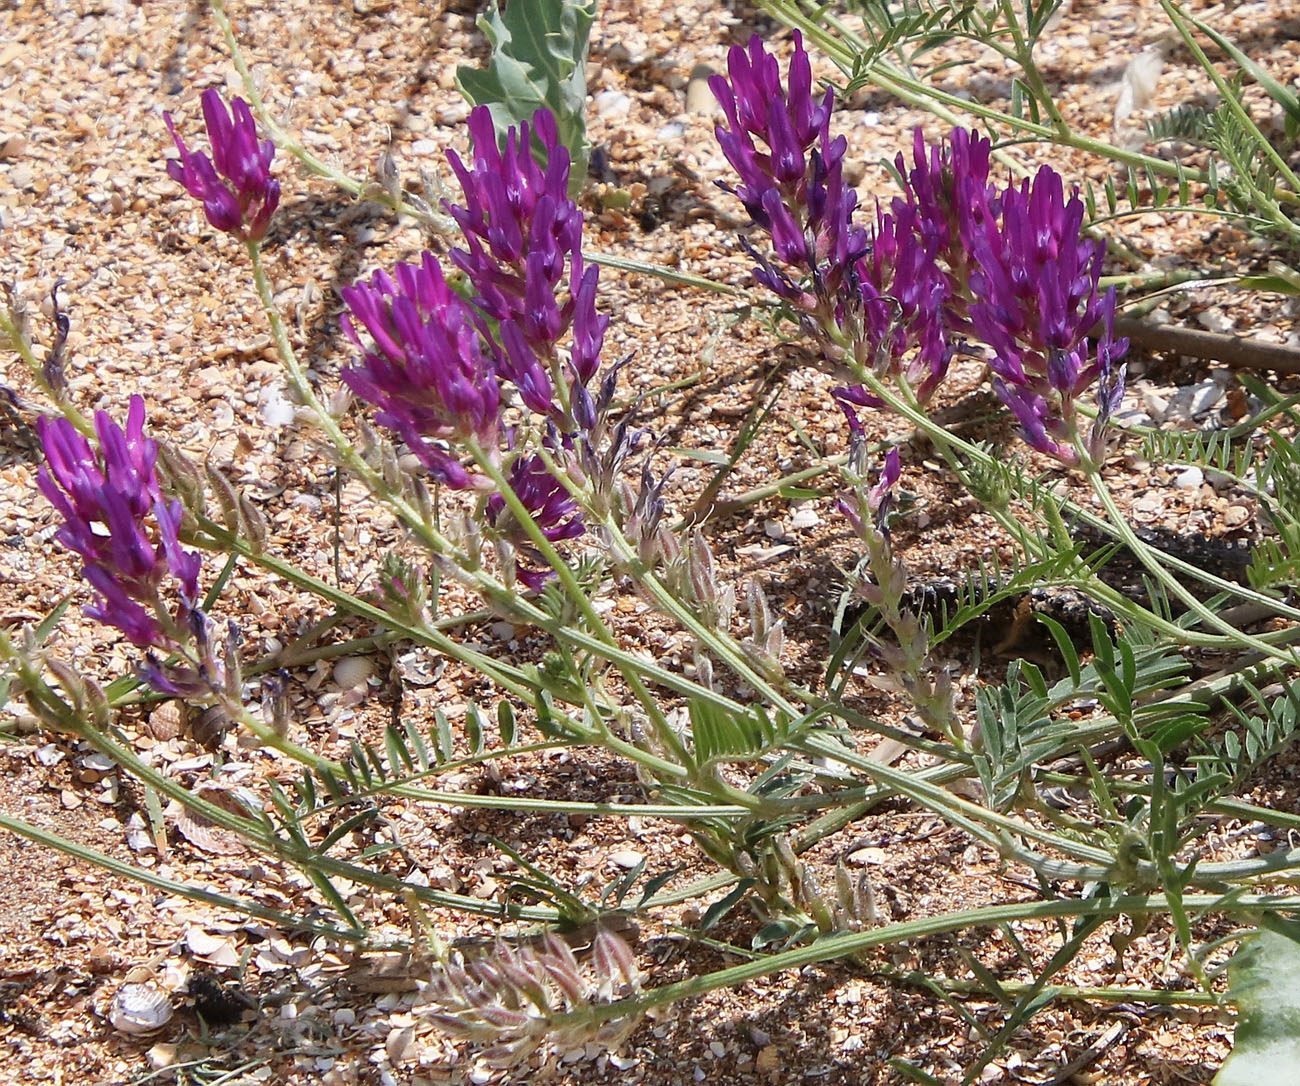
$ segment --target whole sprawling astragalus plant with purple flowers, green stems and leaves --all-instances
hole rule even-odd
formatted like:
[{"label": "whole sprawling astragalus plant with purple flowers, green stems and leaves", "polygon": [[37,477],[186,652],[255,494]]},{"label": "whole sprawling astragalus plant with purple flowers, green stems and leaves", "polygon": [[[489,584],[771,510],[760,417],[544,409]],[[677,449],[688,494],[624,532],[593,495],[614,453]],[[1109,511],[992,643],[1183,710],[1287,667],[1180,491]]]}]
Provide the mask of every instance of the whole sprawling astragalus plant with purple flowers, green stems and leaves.
[{"label": "whole sprawling astragalus plant with purple flowers, green stems and leaves", "polygon": [[[755,300],[768,297],[841,382],[828,395],[844,410],[852,451],[824,497],[863,557],[845,574],[841,609],[841,618],[854,607],[858,616],[838,624],[824,682],[788,672],[783,622],[760,588],[728,583],[706,533],[668,515],[671,467],[655,436],[619,406],[620,363],[604,351],[616,315],[602,311],[599,268],[584,255],[582,213],[569,196],[568,152],[547,112],[500,143],[488,111],[471,113],[472,152],[450,156],[462,198],[443,207],[460,237],[446,261],[422,252],[342,291],[354,358],[335,388],[317,390],[263,259],[281,195],[273,147],[259,139],[244,101],[228,108],[208,91],[211,152],[190,150],[178,134],[185,124],[169,117],[179,156],[166,170],[229,235],[221,245],[243,250],[317,437],[337,468],[391,511],[408,546],[377,555],[382,576],[367,594],[299,568],[276,553],[263,515],[229,479],[150,434],[142,399],[131,399],[125,425],[110,412],[83,414],[14,308],[0,330],[48,401],[38,423],[39,485],[62,522],[56,538],[82,561],[86,614],[126,636],[138,670],[101,687],[46,646],[46,626],[0,633],[0,650],[9,696],[21,695],[42,727],[91,744],[151,795],[299,869],[311,900],[294,907],[300,912],[272,909],[92,856],[10,817],[0,825],[168,891],[361,947],[391,943],[376,934],[376,918],[384,903],[399,903],[432,961],[425,1011],[507,1061],[549,1040],[616,1043],[649,1008],[777,970],[853,957],[888,972],[875,948],[982,926],[1014,939],[1026,921],[1061,921],[1060,947],[1015,983],[979,972],[1005,1024],[965,1069],[967,1081],[1049,1001],[1052,977],[1102,925],[1127,925],[1132,936],[1169,922],[1192,978],[1173,992],[1126,988],[1124,999],[1205,999],[1218,991],[1219,946],[1202,946],[1205,917],[1238,921],[1247,935],[1261,917],[1300,908],[1300,899],[1269,892],[1294,877],[1300,857],[1202,854],[1214,819],[1283,834],[1295,826],[1294,815],[1239,796],[1294,734],[1300,610],[1268,584],[1238,584],[1158,550],[1112,497],[1110,423],[1127,343],[1114,332],[1115,293],[1101,285],[1105,246],[1082,233],[1083,198],[1050,166],[1026,179],[1004,176],[988,139],[957,127],[937,142],[918,134],[898,153],[898,194],[867,205],[844,178],[835,94],[812,86],[798,39],[785,74],[759,39],[733,49],[714,91],[731,191],[755,228],[746,242]],[[987,365],[1023,457],[1041,458],[1036,467],[935,421],[930,404],[958,354]],[[1017,549],[1009,566],[971,571],[946,609],[922,610],[911,592],[893,531],[907,470],[897,447],[871,447],[868,412],[928,440]],[[1292,455],[1278,442],[1275,457]],[[1257,477],[1277,475],[1279,462]],[[1050,485],[1062,472],[1086,481],[1105,515],[1070,505]],[[1079,524],[1102,541],[1083,542]],[[1104,576],[1121,549],[1147,571],[1144,596]],[[456,661],[480,689],[463,734],[439,711],[395,719],[343,758],[313,750],[285,697],[295,675],[252,657],[256,619],[222,605],[234,567],[315,594],[390,642]],[[451,581],[481,611],[448,614]],[[1195,581],[1209,590],[1192,590]],[[689,635],[689,670],[628,646],[628,631],[603,606],[614,585]],[[1091,607],[1080,644],[1056,619],[1037,619],[1062,676],[1049,682],[1015,661],[1005,682],[959,701],[948,639],[1000,601],[1043,587],[1070,589]],[[744,636],[737,600],[749,613]],[[1244,632],[1236,605],[1265,609],[1273,626]],[[537,631],[545,650],[515,659],[482,646],[471,624],[484,616]],[[1248,680],[1231,672],[1192,683],[1190,646],[1249,661]],[[864,683],[892,691],[914,724],[863,711]],[[218,748],[243,743],[266,760],[260,786],[222,805],[143,761],[114,714],[153,697],[216,713]],[[1226,727],[1216,723],[1225,714]],[[880,740],[901,757],[876,757]],[[644,801],[436,787],[452,770],[546,748],[576,760],[602,748],[625,760]],[[870,879],[842,862],[819,878],[806,853],[872,818],[885,799],[932,812],[1041,892],[881,922]],[[712,871],[688,883],[641,865],[593,894],[511,853],[520,870],[512,892],[481,900],[411,878],[400,851],[360,844],[358,831],[382,825],[399,801],[677,822]],[[343,883],[372,894],[350,896]],[[684,903],[694,912],[682,914]],[[497,920],[497,944],[448,948],[429,908]],[[618,934],[628,913],[685,920],[688,935],[715,942],[746,914],[758,926],[744,964],[655,985],[654,968]],[[578,962],[554,933],[582,925],[595,935]],[[1113,935],[1119,946],[1124,933]],[[957,988],[942,977],[927,985],[939,995]],[[1096,995],[1113,998],[1108,991]]]}]

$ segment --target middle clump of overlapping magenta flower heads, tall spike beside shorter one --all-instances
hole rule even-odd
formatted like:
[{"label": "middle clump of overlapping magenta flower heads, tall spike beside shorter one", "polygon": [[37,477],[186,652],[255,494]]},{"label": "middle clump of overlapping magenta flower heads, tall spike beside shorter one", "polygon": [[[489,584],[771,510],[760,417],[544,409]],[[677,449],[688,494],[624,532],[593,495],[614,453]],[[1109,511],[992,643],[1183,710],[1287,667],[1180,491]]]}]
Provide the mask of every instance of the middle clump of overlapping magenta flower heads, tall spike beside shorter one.
[{"label": "middle clump of overlapping magenta flower heads, tall spike beside shorter one", "polygon": [[[594,428],[588,386],[608,325],[595,308],[599,272],[582,261],[582,215],[567,195],[569,157],[554,117],[538,111],[499,147],[491,114],[480,107],[469,114],[469,161],[447,156],[465,203],[446,204],[464,239],[451,261],[465,276],[468,297],[447,285],[428,252],[419,267],[399,265],[393,276],[377,272],[347,287],[343,326],[361,359],[343,380],[438,481],[491,489],[465,466],[464,442],[473,440],[508,460],[507,481],[549,540],[573,538],[584,531],[576,502],[540,454],[514,449],[502,411],[514,389],[545,421],[552,453]],[[545,165],[533,157],[534,139]],[[533,555],[499,494],[486,515],[516,553]],[[541,574],[523,566],[517,572],[530,587],[541,583]]]}]

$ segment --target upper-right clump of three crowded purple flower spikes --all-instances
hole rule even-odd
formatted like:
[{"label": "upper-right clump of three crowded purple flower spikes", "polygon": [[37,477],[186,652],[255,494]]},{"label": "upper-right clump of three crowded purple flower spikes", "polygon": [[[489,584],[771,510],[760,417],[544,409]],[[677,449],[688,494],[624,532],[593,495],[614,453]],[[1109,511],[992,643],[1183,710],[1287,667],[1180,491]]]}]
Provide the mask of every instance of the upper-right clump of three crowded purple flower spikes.
[{"label": "upper-right clump of three crowded purple flower spikes", "polygon": [[[928,146],[918,131],[911,164],[896,161],[902,195],[878,204],[864,230],[842,178],[844,138],[829,137],[833,94],[812,94],[800,36],[784,87],[757,36],[732,49],[728,74],[711,81],[727,120],[718,140],[776,258],[755,254],[755,280],[790,303],[828,360],[902,377],[924,402],[953,355],[980,342],[1032,447],[1067,464],[1080,446],[1100,458],[1128,345],[1113,332],[1114,291],[1098,285],[1104,243],[1082,237],[1083,202],[1060,174],[1041,166],[997,189],[987,139],[957,129]],[[1100,424],[1083,437],[1075,402],[1093,384]],[[854,429],[855,407],[880,403],[862,385],[836,397]]]}]

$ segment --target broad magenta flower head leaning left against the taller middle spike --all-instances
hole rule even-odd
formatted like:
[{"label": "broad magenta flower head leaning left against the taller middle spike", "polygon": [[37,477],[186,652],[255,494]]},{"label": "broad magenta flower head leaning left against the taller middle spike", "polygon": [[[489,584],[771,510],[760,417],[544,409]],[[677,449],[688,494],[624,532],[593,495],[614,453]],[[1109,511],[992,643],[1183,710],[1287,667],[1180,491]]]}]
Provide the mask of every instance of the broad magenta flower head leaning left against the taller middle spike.
[{"label": "broad magenta flower head leaning left against the taller middle spike", "polygon": [[474,313],[430,254],[419,267],[399,264],[395,277],[376,272],[368,284],[341,291],[352,311],[343,317],[343,330],[361,351],[361,364],[342,377],[378,408],[376,421],[396,430],[434,479],[452,489],[484,486],[446,442],[472,437],[485,449],[495,447],[497,362],[485,355]]}]

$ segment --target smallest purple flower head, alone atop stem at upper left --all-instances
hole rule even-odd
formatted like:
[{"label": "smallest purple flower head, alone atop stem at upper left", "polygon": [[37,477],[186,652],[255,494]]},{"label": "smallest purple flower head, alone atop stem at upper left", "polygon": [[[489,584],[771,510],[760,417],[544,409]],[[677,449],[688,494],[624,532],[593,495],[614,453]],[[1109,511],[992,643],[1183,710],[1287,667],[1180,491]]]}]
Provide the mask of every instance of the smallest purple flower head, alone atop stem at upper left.
[{"label": "smallest purple flower head, alone atop stem at upper left", "polygon": [[203,211],[217,230],[240,241],[261,241],[280,203],[280,182],[270,176],[276,144],[257,140],[248,103],[231,99],[230,112],[216,90],[203,92],[203,118],[208,127],[212,157],[190,151],[176,131],[172,114],[162,120],[176,142],[178,159],[166,164],[168,176],[203,202]]}]

